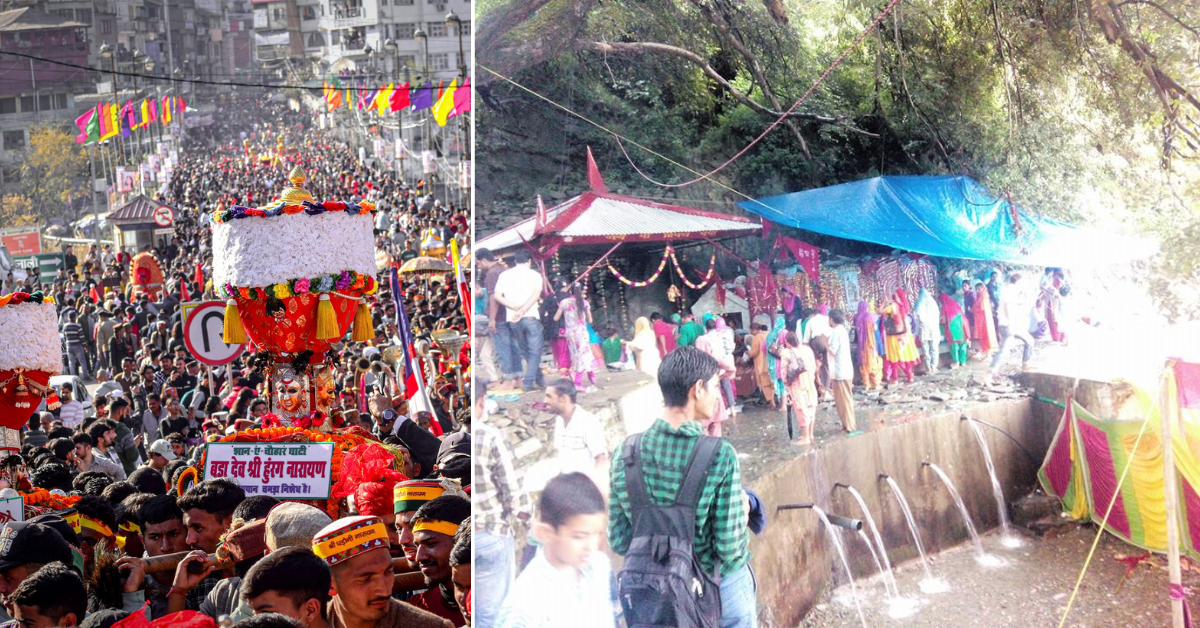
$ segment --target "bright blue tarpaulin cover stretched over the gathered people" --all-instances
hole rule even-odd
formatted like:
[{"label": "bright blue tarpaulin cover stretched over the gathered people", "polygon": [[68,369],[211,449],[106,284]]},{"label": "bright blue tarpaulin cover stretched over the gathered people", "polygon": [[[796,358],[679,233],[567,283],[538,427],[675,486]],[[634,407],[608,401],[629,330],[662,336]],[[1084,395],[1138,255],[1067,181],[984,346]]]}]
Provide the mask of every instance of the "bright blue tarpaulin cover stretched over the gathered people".
[{"label": "bright blue tarpaulin cover stretched over the gathered people", "polygon": [[[1147,239],[1034,217],[970,177],[876,177],[739,203],[826,235],[956,259],[1098,267],[1157,252]],[[1019,227],[1018,227],[1019,226]]]}]

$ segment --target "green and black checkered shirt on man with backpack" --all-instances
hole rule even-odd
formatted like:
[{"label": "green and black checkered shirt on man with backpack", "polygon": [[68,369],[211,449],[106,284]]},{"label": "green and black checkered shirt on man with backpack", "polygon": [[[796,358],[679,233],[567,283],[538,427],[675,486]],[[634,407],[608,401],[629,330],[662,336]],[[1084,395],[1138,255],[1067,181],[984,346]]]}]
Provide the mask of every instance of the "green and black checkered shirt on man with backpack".
[{"label": "green and black checkered shirt on man with backpack", "polygon": [[[662,419],[646,430],[641,450],[642,476],[652,502],[659,506],[674,503],[701,433],[700,423],[688,421],[676,430]],[[624,555],[634,538],[634,519],[625,489],[624,445],[612,457],[608,544],[613,551]],[[728,441],[721,441],[700,494],[696,538],[692,540],[692,551],[706,572],[719,566],[721,575],[728,575],[750,560],[750,532],[743,495],[737,453]]]}]

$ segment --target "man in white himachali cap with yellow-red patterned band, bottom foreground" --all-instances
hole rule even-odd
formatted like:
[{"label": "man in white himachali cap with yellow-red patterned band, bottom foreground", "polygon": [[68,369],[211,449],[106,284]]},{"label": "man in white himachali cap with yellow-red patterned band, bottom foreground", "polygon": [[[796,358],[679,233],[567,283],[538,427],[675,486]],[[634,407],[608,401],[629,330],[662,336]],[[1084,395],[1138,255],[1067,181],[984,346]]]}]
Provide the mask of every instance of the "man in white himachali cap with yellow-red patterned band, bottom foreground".
[{"label": "man in white himachali cap with yellow-red patterned band, bottom foreground", "polygon": [[395,575],[388,531],[377,516],[334,521],[312,539],[312,552],[329,564],[334,628],[452,628],[452,623],[391,598]]}]

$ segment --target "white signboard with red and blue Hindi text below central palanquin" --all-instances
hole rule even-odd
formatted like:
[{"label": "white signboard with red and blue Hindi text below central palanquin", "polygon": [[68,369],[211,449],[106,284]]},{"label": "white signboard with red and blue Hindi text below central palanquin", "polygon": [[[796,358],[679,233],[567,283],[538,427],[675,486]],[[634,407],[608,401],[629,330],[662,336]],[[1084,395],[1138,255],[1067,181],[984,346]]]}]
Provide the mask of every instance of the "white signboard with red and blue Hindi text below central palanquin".
[{"label": "white signboard with red and blue Hindi text below central palanquin", "polygon": [[246,495],[328,500],[334,443],[209,443],[204,479],[228,478]]}]

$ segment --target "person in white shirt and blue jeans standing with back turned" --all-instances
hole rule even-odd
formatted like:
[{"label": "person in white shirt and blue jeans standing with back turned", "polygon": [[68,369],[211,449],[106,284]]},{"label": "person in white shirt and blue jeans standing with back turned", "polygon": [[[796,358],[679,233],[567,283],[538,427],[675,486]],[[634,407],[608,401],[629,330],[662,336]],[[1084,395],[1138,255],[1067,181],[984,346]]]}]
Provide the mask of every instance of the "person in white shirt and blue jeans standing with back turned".
[{"label": "person in white shirt and blue jeans standing with back turned", "polygon": [[514,355],[512,364],[526,360],[524,389],[538,390],[542,385],[541,349],[542,329],[538,301],[545,283],[541,273],[530,265],[529,251],[517,251],[512,256],[514,267],[505,270],[496,280],[496,300],[508,309],[505,324],[516,337],[512,351],[524,349],[522,355]]}]

